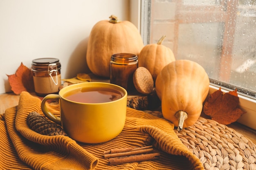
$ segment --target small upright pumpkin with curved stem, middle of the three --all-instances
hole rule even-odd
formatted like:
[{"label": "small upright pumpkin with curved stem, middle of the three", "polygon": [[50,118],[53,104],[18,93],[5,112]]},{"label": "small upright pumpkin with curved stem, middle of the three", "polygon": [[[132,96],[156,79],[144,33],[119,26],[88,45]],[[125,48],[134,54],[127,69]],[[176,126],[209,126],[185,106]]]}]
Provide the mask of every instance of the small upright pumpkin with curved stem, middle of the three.
[{"label": "small upright pumpkin with curved stem, middle of the three", "polygon": [[173,51],[167,46],[162,45],[165,37],[165,35],[162,36],[157,44],[144,46],[138,56],[138,66],[147,68],[154,82],[162,68],[175,61]]}]

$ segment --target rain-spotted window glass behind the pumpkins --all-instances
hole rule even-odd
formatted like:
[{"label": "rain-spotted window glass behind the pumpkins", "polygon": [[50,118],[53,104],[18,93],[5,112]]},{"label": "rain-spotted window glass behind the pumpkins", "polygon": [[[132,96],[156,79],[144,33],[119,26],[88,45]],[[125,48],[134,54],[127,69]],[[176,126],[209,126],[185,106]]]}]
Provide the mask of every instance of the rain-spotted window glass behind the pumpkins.
[{"label": "rain-spotted window glass behind the pumpkins", "polygon": [[211,83],[256,97],[256,0],[142,0],[144,44],[198,62]]}]

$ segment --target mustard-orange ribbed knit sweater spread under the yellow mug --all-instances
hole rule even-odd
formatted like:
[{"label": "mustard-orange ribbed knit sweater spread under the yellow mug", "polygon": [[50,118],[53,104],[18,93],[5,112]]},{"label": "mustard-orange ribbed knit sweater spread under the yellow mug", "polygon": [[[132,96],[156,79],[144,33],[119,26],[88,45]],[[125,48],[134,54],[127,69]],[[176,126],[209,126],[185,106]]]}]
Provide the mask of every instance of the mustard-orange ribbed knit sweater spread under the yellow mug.
[{"label": "mustard-orange ribbed knit sweater spread under the yellow mug", "polygon": [[[0,115],[1,170],[203,170],[202,163],[182,144],[173,124],[143,111],[127,108],[123,131],[111,141],[83,144],[58,135],[45,136],[31,130],[27,115],[40,109],[41,101],[27,92],[19,104]],[[59,112],[49,105],[52,113]],[[153,145],[160,159],[109,166],[104,152],[114,148]]]}]

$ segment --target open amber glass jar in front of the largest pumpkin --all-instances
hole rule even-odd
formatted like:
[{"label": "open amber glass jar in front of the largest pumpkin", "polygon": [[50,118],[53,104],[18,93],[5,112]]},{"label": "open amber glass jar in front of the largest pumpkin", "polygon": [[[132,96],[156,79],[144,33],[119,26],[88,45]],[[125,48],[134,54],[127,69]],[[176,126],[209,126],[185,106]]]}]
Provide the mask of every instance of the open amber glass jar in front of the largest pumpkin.
[{"label": "open amber glass jar in front of the largest pumpkin", "polygon": [[138,56],[130,53],[118,53],[111,56],[110,83],[125,88],[128,92],[135,90],[133,73],[138,68]]}]

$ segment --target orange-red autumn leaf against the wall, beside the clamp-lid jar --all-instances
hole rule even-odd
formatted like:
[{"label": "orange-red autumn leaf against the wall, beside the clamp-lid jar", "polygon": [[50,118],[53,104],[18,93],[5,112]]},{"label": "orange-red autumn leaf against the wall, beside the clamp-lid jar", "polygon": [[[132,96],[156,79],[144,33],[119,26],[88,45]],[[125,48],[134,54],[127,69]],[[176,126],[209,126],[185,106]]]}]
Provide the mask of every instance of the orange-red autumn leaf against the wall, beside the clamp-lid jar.
[{"label": "orange-red autumn leaf against the wall, beside the clamp-lid jar", "polygon": [[7,75],[11,90],[16,95],[22,91],[34,92],[34,82],[32,71],[22,63],[13,75]]}]

